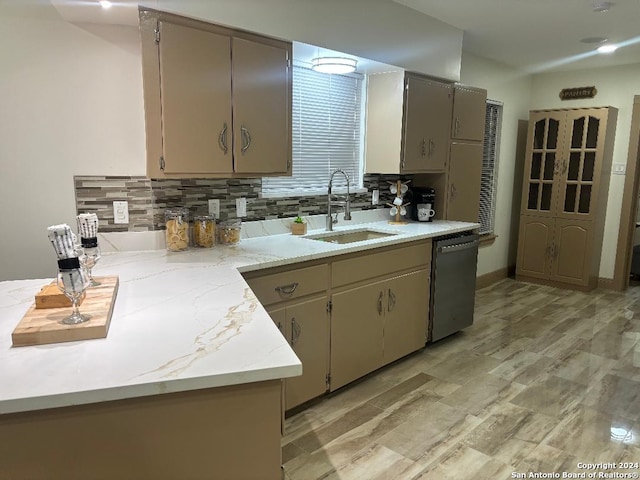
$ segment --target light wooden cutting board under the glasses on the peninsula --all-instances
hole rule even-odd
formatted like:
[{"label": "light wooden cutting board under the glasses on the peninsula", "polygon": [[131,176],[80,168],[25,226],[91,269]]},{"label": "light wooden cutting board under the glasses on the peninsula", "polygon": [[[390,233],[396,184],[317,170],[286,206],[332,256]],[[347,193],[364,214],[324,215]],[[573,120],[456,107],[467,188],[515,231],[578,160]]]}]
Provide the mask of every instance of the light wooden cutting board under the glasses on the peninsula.
[{"label": "light wooden cutting board under the glasses on the peninsula", "polygon": [[88,288],[80,306],[80,313],[91,316],[89,321],[78,325],[64,325],[60,321],[71,314],[71,307],[36,309],[34,304],[11,334],[13,346],[105,338],[118,293],[118,276],[95,279],[101,285]]}]

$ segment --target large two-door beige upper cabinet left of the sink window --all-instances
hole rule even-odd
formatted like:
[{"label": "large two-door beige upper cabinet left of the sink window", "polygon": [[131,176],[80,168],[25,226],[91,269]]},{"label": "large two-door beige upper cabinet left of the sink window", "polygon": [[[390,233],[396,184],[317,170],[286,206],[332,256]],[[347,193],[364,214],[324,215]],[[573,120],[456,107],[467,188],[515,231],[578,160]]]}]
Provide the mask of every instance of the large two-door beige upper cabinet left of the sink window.
[{"label": "large two-door beige upper cabinet left of the sink window", "polygon": [[291,44],[140,12],[151,178],[291,173]]}]

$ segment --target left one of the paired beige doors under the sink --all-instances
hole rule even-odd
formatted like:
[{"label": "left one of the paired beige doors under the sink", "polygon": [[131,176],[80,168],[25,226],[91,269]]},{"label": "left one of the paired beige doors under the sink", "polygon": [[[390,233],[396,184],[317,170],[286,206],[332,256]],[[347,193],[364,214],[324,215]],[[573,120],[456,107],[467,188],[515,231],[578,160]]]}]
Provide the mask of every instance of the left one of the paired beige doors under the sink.
[{"label": "left one of the paired beige doors under the sink", "polygon": [[382,366],[387,282],[331,297],[331,390]]}]

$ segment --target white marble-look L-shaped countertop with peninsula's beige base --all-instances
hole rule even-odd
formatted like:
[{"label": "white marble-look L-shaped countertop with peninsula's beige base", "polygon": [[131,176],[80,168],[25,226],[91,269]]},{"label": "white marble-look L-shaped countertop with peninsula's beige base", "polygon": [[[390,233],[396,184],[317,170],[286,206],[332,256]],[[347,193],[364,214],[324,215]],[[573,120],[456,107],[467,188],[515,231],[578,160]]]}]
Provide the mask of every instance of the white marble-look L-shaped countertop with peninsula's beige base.
[{"label": "white marble-look L-shaped countertop with peninsula's beige base", "polygon": [[281,379],[302,368],[242,273],[477,227],[377,220],[396,234],[340,245],[264,222],[235,247],[104,255],[105,339],[11,347],[47,281],[0,283],[0,478],[279,478]]}]

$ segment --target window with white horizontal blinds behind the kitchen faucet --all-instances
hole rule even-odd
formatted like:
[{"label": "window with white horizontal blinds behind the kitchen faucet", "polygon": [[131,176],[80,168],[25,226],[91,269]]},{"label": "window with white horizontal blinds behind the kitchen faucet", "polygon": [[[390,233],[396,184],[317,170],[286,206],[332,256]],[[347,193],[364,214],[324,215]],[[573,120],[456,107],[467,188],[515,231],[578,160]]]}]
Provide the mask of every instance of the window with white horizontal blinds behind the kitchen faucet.
[{"label": "window with white horizontal blinds behind the kitchen faucet", "polygon": [[[263,195],[324,194],[336,168],[362,187],[363,76],[294,66],[292,89],[293,174],[263,178]],[[336,176],[335,186],[346,182]]]}]

